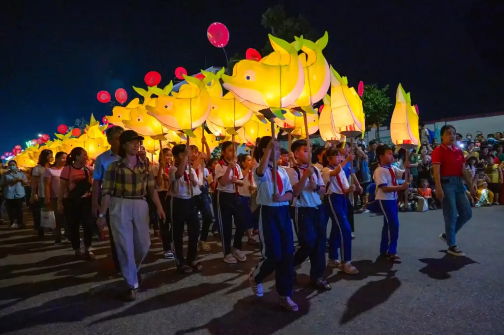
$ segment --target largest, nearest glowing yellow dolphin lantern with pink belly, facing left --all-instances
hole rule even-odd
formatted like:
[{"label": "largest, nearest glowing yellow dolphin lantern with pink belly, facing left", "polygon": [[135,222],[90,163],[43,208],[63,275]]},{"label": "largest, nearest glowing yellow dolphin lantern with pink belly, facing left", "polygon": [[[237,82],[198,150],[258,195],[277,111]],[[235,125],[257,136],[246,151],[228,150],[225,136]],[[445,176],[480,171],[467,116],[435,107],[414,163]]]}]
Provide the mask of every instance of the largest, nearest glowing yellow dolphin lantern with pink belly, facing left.
[{"label": "largest, nearest glowing yellow dolphin lantern with pink belly, facing left", "polygon": [[240,60],[234,65],[233,75],[222,75],[222,81],[224,88],[249,109],[270,108],[276,117],[283,119],[281,108],[295,103],[304,87],[303,66],[297,56],[302,38],[290,44],[268,36],[272,53],[260,61]]}]

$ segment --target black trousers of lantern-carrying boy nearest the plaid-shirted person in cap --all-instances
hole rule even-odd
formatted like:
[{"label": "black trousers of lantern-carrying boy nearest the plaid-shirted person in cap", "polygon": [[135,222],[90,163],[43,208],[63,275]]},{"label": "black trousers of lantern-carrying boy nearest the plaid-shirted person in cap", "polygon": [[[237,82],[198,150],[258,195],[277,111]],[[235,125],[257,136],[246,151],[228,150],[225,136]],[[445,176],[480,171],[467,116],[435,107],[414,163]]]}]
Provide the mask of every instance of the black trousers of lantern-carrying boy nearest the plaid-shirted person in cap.
[{"label": "black trousers of lantern-carrying boy nearest the plaid-shirted person in cap", "polygon": [[[184,264],[191,264],[196,260],[198,254],[198,238],[200,237],[200,220],[196,211],[195,199],[181,199],[171,197],[170,202],[171,234],[175,249],[177,268]],[[187,256],[184,260],[183,254],[183,234],[184,225],[187,225]]]}]

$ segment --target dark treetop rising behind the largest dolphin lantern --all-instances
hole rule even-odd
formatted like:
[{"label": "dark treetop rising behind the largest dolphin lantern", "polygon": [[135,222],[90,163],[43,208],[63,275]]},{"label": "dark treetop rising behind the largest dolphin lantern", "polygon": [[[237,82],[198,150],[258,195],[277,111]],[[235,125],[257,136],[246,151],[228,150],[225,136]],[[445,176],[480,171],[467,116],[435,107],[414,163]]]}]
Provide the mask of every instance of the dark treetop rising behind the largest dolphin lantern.
[{"label": "dark treetop rising behind the largest dolphin lantern", "polygon": [[[321,37],[317,37],[308,20],[306,20],[302,15],[289,17],[281,5],[268,8],[262,15],[261,25],[275,37],[286,41],[293,41],[294,36],[301,35],[312,41]],[[262,49],[258,49],[258,51],[261,53],[261,56],[265,56],[270,54],[273,49],[270,42],[266,41],[265,46]],[[232,75],[234,64],[236,64],[238,60],[244,58],[244,52],[235,53],[231,58],[229,58],[226,66],[226,73],[228,75]]]}]

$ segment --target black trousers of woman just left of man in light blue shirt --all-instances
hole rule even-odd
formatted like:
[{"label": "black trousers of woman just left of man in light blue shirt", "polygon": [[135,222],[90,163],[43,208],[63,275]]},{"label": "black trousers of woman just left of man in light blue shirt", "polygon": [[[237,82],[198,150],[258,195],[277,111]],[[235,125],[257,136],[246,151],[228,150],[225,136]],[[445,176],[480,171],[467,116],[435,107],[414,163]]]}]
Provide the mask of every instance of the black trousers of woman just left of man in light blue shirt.
[{"label": "black trousers of woman just left of man in light blue shirt", "polygon": [[84,231],[84,246],[89,248],[93,239],[93,218],[91,216],[91,196],[65,199],[63,203],[65,220],[70,231],[69,237],[74,250],[81,248],[79,228]]}]

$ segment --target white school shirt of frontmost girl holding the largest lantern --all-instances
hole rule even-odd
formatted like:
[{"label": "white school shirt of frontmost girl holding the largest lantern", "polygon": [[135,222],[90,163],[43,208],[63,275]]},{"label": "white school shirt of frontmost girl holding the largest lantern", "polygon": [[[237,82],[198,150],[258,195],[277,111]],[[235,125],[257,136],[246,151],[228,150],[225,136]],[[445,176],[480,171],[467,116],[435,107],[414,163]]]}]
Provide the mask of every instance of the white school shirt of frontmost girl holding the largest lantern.
[{"label": "white school shirt of frontmost girl holding the largest lantern", "polygon": [[[259,166],[258,166],[259,167]],[[263,206],[271,206],[271,207],[280,207],[280,206],[289,206],[289,202],[274,202],[273,201],[273,179],[271,179],[271,165],[268,165],[264,175],[260,176],[257,174],[257,168],[254,168],[254,180],[257,183],[257,204]],[[292,186],[290,185],[289,175],[287,171],[283,168],[278,168],[278,172],[280,173],[280,178],[282,179],[283,190],[282,194],[284,195],[287,192],[292,193]],[[277,176],[275,175],[275,178]],[[278,187],[278,186],[277,186]]]}]

